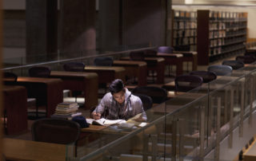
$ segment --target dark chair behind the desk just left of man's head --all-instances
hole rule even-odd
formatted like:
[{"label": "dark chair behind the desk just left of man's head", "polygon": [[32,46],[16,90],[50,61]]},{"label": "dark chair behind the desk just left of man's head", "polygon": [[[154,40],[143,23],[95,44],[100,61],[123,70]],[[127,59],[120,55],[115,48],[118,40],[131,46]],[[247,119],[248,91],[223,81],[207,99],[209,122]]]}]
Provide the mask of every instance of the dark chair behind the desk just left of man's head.
[{"label": "dark chair behind the desk just left of man's head", "polygon": [[[63,69],[67,72],[84,72],[86,65],[83,62],[67,62],[63,65]],[[72,96],[77,102],[77,97],[81,95],[81,91],[72,91]]]}]

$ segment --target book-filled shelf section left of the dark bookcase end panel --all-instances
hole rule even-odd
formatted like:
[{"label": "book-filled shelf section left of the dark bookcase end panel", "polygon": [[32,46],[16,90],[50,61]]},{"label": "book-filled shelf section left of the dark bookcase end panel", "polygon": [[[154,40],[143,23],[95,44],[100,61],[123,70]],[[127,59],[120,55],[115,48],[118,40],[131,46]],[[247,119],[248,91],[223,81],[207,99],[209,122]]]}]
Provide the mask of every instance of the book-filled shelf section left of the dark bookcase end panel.
[{"label": "book-filled shelf section left of the dark bookcase end panel", "polygon": [[175,51],[196,51],[197,12],[172,10],[173,33],[172,46]]}]

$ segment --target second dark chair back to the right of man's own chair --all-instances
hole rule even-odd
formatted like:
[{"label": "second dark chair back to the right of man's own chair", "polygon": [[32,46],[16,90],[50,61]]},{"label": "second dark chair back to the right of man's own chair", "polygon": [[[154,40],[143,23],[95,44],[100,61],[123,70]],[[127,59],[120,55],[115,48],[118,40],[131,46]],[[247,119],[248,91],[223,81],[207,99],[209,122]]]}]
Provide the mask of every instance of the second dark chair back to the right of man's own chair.
[{"label": "second dark chair back to the right of man's own chair", "polygon": [[202,77],[182,75],[175,78],[175,91],[188,92],[202,85]]}]

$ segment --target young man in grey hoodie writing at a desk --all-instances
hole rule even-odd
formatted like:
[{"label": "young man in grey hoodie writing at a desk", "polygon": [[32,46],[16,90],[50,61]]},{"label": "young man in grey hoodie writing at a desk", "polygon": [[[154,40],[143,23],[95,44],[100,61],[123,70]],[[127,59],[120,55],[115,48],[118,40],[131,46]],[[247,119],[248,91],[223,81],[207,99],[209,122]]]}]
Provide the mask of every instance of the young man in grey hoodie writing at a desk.
[{"label": "young man in grey hoodie writing at a desk", "polygon": [[110,92],[103,96],[101,102],[91,113],[94,120],[102,117],[109,120],[129,120],[131,117],[142,113],[138,121],[146,121],[142,100],[131,94],[127,88],[124,88],[122,80],[114,80],[109,89]]}]

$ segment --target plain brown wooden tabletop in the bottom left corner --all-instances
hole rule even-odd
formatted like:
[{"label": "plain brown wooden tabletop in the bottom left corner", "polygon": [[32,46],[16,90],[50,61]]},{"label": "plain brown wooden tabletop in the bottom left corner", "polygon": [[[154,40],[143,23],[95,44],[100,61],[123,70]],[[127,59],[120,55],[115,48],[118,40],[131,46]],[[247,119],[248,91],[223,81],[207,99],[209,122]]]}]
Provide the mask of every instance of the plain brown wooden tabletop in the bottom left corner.
[{"label": "plain brown wooden tabletop in the bottom left corner", "polygon": [[3,154],[10,160],[66,160],[66,145],[22,139],[3,139]]}]

